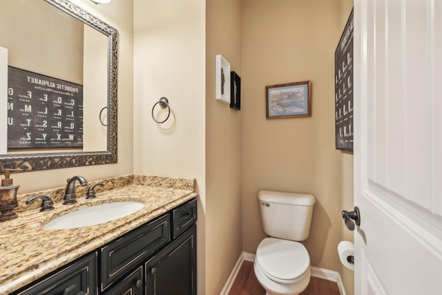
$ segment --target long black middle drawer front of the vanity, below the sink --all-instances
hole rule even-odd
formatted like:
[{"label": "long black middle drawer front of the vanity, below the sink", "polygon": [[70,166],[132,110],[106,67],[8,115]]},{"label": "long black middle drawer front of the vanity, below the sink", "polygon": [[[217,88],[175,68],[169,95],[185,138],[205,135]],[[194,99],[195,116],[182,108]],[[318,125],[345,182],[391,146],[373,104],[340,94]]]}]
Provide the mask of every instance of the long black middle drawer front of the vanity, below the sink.
[{"label": "long black middle drawer front of the vanity, below the sink", "polygon": [[148,222],[100,249],[102,291],[171,240],[169,218]]}]

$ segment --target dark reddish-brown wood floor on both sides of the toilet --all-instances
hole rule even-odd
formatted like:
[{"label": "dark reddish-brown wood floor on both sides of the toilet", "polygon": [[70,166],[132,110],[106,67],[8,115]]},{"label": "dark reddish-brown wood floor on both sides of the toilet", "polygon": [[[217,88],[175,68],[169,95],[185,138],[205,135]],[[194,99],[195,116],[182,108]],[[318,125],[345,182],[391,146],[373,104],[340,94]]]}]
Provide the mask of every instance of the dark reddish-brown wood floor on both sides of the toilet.
[{"label": "dark reddish-brown wood floor on both sides of the toilet", "polygon": [[[229,295],[265,295],[265,289],[253,272],[253,263],[249,261],[242,263]],[[312,276],[307,289],[300,295],[340,295],[340,292],[337,283]]]}]

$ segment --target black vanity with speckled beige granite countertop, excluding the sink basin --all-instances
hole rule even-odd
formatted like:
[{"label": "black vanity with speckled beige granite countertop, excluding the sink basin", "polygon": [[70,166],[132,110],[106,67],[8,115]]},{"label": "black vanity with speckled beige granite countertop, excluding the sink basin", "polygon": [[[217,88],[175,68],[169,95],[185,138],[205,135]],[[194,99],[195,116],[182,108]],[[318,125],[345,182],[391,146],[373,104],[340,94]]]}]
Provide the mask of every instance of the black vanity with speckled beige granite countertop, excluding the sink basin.
[{"label": "black vanity with speckled beige granite countertop, excluding the sink basin", "polygon": [[[0,294],[196,294],[197,193],[134,178],[94,200],[79,198],[76,208],[58,203],[55,210],[25,211],[3,223],[10,229],[20,224],[21,235],[0,230],[0,251],[10,258],[0,258],[6,263],[0,265]],[[66,210],[126,200],[145,206],[99,225],[43,228]]]}]

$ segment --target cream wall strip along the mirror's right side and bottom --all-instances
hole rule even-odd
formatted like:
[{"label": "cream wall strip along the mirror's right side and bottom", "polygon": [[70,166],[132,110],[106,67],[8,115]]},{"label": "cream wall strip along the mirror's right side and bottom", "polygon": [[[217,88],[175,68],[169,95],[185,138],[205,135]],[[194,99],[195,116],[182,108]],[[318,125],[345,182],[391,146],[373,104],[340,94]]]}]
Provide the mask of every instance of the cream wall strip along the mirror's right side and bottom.
[{"label": "cream wall strip along the mirror's right side and bottom", "polygon": [[[133,173],[133,6],[132,1],[114,0],[95,5],[89,0],[72,0],[119,31],[118,40],[118,163],[30,173],[15,173],[19,193],[64,187],[66,179],[82,175],[99,180]],[[35,49],[35,48],[34,48]],[[82,50],[82,49],[81,49]],[[98,123],[99,124],[99,123]]]}]

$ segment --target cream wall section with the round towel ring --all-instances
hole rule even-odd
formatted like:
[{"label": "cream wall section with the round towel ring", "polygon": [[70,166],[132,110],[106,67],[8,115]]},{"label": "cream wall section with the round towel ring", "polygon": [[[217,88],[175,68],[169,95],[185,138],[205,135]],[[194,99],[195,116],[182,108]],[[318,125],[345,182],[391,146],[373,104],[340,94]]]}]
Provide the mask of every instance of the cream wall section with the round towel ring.
[{"label": "cream wall section with the round towel ring", "polygon": [[[205,1],[135,0],[133,17],[134,111],[126,120],[134,122],[134,172],[196,178],[198,294],[206,294]],[[155,124],[160,97],[169,99],[171,117]],[[155,115],[162,120],[164,112]]]}]

